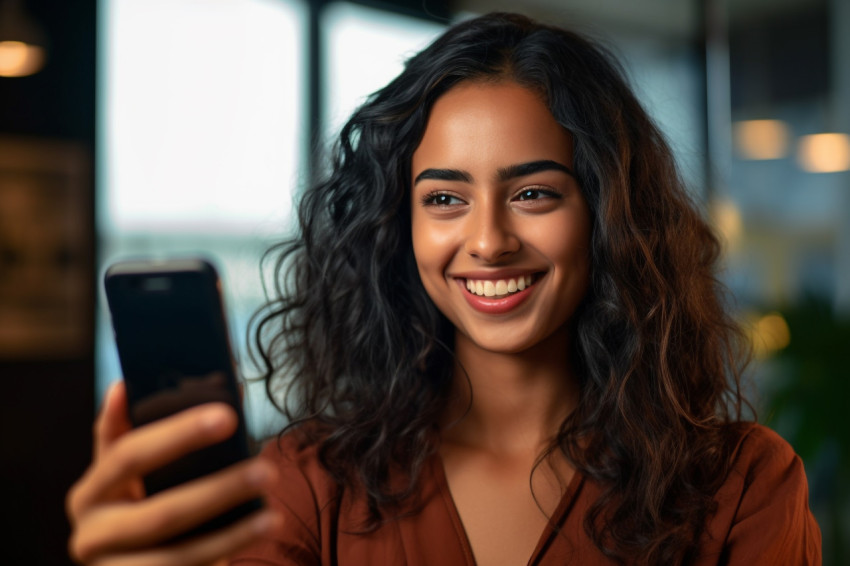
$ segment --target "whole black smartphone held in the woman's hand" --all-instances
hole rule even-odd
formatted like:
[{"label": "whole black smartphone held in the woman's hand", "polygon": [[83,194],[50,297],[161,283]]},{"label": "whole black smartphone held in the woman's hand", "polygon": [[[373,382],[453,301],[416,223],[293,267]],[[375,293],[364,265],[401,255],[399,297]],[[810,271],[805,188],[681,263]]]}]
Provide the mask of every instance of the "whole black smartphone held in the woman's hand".
[{"label": "whole black smartphone held in the woman's hand", "polygon": [[[221,282],[203,259],[125,261],[104,278],[133,426],[219,401],[239,426],[230,438],[192,452],[144,478],[148,495],[225,468],[250,456],[230,345]],[[209,532],[259,509],[259,500],[181,535]]]}]

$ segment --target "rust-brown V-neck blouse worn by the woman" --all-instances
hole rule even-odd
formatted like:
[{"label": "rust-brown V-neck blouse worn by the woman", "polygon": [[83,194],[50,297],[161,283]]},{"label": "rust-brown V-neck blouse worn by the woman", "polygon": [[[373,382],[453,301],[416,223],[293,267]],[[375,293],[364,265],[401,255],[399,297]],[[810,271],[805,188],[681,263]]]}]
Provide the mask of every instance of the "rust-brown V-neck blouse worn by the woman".
[{"label": "rust-brown V-neck blouse worn by the woman", "polygon": [[[421,478],[421,505],[368,534],[357,534],[364,501],[339,489],[293,435],[270,443],[263,457],[280,469],[268,494],[284,524],[274,537],[245,549],[231,564],[323,566],[474,566],[442,463],[431,458]],[[528,564],[612,565],[584,531],[599,493],[576,473]],[[808,506],[803,464],[773,431],[753,425],[741,437],[732,472],[718,490],[717,512],[700,538],[698,566],[821,563],[821,535]],[[559,530],[557,527],[561,527]]]}]

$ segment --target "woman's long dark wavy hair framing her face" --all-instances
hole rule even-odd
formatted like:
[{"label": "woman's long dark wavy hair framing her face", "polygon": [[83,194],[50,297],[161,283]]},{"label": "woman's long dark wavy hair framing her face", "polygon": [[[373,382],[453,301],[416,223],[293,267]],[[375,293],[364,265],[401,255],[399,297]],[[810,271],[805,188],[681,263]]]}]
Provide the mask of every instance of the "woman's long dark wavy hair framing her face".
[{"label": "woman's long dark wavy hair framing her face", "polygon": [[743,357],[718,242],[623,76],[572,32],[502,13],[462,22],[354,113],[326,179],[301,195],[297,234],[271,250],[275,297],[255,346],[289,426],[312,423],[322,464],[376,520],[416,492],[453,379],[454,329],[413,257],[411,157],[443,93],[509,80],[572,135],[592,218],[569,345],[580,401],[550,453],[602,486],[585,529],[607,555],[663,564],[696,552],[731,465]]}]

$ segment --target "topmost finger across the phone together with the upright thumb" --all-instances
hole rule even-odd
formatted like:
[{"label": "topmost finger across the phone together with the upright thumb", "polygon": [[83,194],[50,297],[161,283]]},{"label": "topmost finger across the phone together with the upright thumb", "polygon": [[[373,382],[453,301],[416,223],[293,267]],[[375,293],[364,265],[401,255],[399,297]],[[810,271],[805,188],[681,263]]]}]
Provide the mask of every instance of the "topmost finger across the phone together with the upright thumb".
[{"label": "topmost finger across the phone together with the upright thumb", "polygon": [[[69,515],[79,517],[96,503],[126,493],[128,482],[162,467],[180,456],[224,440],[237,426],[233,409],[211,403],[187,409],[110,440],[120,429],[121,390],[116,389],[104,407],[104,424],[98,425],[104,444],[101,456],[69,495]],[[113,412],[114,411],[114,412]],[[109,422],[112,421],[112,422]],[[116,426],[112,426],[112,425]]]}]

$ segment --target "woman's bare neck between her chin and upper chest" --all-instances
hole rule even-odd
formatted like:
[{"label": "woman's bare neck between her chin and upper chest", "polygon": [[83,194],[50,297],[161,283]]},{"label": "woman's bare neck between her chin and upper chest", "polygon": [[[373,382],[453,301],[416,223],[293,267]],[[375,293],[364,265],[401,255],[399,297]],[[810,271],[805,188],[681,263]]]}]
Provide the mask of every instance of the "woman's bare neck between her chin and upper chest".
[{"label": "woman's bare neck between her chin and upper chest", "polygon": [[568,344],[566,328],[515,354],[483,350],[458,334],[443,440],[505,454],[539,454],[578,402]]}]

